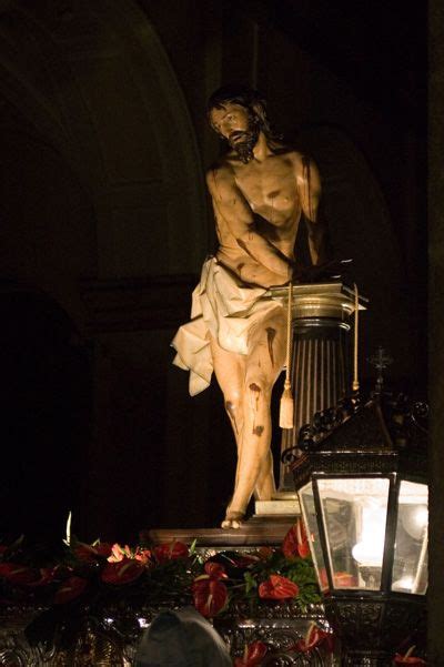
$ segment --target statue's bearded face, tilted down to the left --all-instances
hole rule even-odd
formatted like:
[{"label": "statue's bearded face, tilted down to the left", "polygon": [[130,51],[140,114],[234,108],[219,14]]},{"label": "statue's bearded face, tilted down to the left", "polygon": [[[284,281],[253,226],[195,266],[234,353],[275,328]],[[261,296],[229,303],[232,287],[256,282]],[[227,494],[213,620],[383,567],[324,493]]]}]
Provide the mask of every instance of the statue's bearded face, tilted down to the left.
[{"label": "statue's bearded face, tilted down to the left", "polygon": [[253,159],[260,127],[245,107],[228,102],[222,109],[212,109],[210,120],[213,129],[228,140],[244,164]]}]

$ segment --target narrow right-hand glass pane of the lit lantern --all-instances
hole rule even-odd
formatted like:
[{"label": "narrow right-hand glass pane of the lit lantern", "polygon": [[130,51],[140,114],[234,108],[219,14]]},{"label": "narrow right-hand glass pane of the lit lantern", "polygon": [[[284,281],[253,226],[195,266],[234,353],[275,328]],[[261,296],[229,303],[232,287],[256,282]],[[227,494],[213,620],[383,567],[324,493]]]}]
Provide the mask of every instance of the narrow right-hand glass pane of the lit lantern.
[{"label": "narrow right-hand glass pane of the lit lantern", "polygon": [[428,489],[403,479],[400,485],[392,590],[427,590]]}]

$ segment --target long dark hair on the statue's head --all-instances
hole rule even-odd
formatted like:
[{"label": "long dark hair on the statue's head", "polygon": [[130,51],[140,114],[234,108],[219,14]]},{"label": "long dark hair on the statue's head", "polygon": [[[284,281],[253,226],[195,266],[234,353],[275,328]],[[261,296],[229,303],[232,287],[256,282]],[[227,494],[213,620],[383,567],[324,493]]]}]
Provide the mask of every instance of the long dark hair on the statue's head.
[{"label": "long dark hair on the statue's head", "polygon": [[[280,140],[281,134],[273,131],[266,115],[266,100],[253,88],[248,85],[222,85],[210,97],[206,104],[206,118],[211,127],[211,112],[213,109],[223,109],[226,104],[239,104],[249,111],[250,117],[258,123],[266,139]],[[215,130],[215,128],[213,128]],[[216,131],[216,130],[215,130]]]}]

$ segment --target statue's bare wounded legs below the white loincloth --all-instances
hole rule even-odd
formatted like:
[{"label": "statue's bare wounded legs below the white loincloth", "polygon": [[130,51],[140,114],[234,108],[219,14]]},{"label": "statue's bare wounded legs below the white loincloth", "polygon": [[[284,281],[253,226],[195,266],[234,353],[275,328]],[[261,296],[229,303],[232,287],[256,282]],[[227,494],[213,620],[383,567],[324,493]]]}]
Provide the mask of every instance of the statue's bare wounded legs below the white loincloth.
[{"label": "statue's bare wounded legs below the white loincloth", "polygon": [[253,491],[260,499],[274,492],[270,452],[270,401],[285,356],[285,317],[276,311],[261,323],[248,356],[229,353],[212,341],[214,371],[225,400],[238,442],[233,497],[222,523],[239,528]]}]

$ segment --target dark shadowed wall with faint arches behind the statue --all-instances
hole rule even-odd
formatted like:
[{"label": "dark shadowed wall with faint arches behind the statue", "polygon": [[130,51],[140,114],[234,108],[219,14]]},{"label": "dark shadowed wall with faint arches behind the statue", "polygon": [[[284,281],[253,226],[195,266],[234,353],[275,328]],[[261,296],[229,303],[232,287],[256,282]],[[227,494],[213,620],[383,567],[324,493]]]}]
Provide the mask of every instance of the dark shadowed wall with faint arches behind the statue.
[{"label": "dark shadowed wall with faint arches behind the statue", "polygon": [[[426,391],[426,6],[0,3],[0,533],[212,526],[234,445],[169,343],[214,247],[205,100],[242,81],[319,162],[369,296],[361,373]],[[279,433],[275,433],[279,449]]]}]

